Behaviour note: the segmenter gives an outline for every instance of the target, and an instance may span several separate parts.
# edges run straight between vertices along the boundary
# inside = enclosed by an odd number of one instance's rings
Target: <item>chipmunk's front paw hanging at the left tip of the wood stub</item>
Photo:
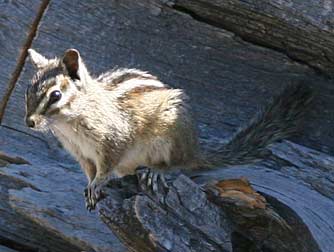
[[[84,191],[86,208],[89,212],[96,208],[97,202],[102,198],[102,187],[104,183],[96,178]]]

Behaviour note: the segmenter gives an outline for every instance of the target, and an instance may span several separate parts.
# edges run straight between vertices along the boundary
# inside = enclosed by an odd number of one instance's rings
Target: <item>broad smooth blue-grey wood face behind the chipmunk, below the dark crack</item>
[[[93,74],[115,66],[138,67],[186,89],[203,138],[230,136],[287,83],[307,79],[317,97],[296,141],[334,153],[330,81],[281,53],[195,20],[166,1],[53,1],[33,47],[48,57],[74,47]],[[24,131],[24,89],[31,76],[27,64],[5,118],[5,124]]]

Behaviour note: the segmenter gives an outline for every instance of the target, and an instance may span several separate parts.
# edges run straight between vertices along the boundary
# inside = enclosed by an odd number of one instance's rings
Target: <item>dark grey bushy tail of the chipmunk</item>
[[[307,85],[288,85],[246,128],[207,156],[210,166],[240,165],[263,159],[269,144],[298,132],[311,100],[312,92]]]

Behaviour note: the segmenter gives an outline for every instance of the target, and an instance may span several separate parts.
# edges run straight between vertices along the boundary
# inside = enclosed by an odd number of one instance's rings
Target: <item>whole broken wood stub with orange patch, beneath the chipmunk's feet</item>
[[[297,214],[269,195],[267,202],[245,178],[204,189],[181,175],[163,197],[136,184],[130,176],[112,180],[98,204],[102,220],[131,250],[320,251]]]

